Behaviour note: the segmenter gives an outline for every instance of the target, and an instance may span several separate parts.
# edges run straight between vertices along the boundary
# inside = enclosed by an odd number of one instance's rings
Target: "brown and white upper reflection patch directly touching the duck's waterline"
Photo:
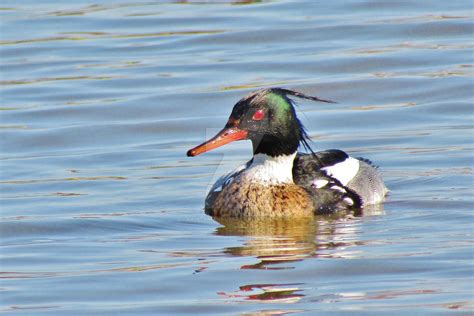
[[[369,216],[382,212],[381,206],[371,208]],[[354,251],[350,248],[362,244],[357,238],[362,216],[351,213],[312,218],[214,219],[222,225],[216,230],[218,235],[251,237],[241,246],[224,249],[234,256],[257,258],[256,263],[241,269],[292,269],[292,262],[308,257],[352,257]]]

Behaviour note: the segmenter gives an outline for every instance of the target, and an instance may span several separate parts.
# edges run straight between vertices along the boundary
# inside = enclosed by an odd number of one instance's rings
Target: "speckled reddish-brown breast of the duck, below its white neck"
[[[212,203],[212,215],[224,217],[312,216],[309,194],[296,184],[262,185],[234,181]]]

